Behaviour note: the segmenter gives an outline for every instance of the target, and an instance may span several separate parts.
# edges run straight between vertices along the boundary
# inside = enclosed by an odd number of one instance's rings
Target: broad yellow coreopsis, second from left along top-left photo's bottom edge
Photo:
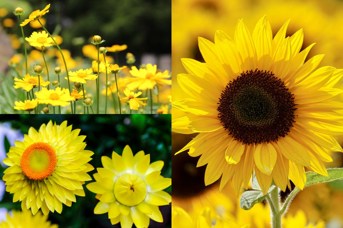
[[[52,106],[62,106],[66,107],[70,103],[69,101],[73,100],[73,97],[70,96],[68,89],[61,89],[56,87],[55,90],[48,90],[43,87],[41,91],[35,92],[36,97],[38,98],[39,104],[47,104]]]

